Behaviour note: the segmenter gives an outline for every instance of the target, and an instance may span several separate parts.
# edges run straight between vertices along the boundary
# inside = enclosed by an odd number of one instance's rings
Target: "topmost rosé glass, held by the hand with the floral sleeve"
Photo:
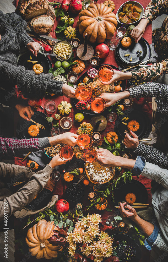
[[[102,65],[97,73],[100,81],[108,82],[112,79],[114,74],[113,68],[110,65]]]

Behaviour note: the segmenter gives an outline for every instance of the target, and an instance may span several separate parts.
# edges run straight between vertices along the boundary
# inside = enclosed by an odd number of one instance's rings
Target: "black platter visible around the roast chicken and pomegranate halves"
[[[97,70],[99,70],[99,68],[100,68],[102,65],[103,65],[103,64],[101,64],[101,65],[96,65],[94,68],[97,69]],[[117,67],[115,67],[114,65],[110,65],[110,66],[111,66],[113,69],[120,71],[120,70],[119,70]],[[79,79],[77,80],[77,82],[75,83],[75,85],[78,85],[80,82],[83,83],[83,79],[84,79],[85,77],[88,77],[88,71],[86,71],[83,75],[81,75],[81,76],[79,77]],[[122,87],[123,90],[125,90],[125,89],[126,89],[126,80],[122,80],[122,83],[121,83],[120,86]],[[78,101],[79,101],[78,99],[73,99],[73,102],[74,102],[75,107],[76,107]],[[79,112],[82,112],[82,113],[84,113],[84,114],[89,114],[89,115],[92,115],[92,116],[96,115],[96,113],[91,113],[90,110],[88,111],[88,110],[86,110],[86,109],[83,110],[83,111],[80,111],[80,110],[79,110]]]

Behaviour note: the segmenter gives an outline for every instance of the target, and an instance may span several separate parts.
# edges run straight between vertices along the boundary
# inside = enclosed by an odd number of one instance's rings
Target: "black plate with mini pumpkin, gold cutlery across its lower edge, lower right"
[[[145,186],[138,180],[132,179],[131,182],[120,182],[117,185],[117,189],[114,191],[115,206],[118,206],[118,202],[125,201],[125,196],[128,193],[136,195],[135,203],[147,204],[148,192]]]

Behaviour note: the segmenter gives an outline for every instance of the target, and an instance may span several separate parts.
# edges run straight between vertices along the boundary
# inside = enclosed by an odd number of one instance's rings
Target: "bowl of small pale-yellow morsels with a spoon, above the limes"
[[[60,61],[66,61],[72,56],[73,47],[67,40],[60,40],[53,46],[53,54]]]

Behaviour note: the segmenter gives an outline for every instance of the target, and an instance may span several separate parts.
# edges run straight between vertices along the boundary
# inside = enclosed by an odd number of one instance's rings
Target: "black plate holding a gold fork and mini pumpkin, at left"
[[[37,135],[37,137],[48,137],[50,135],[52,123],[48,122],[46,117],[47,115],[40,111],[34,112],[34,115],[31,117],[31,119],[34,120],[36,123],[44,125],[45,127],[45,129],[39,128],[40,132],[39,135]],[[28,134],[28,128],[30,127],[30,125],[35,125],[35,123],[20,118],[17,126],[17,134],[20,135],[22,139],[33,138]]]

